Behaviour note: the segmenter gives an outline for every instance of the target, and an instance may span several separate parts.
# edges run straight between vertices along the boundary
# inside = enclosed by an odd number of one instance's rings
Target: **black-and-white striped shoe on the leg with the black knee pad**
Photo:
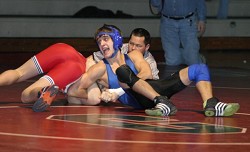
[[[153,101],[156,106],[145,110],[149,116],[171,116],[177,112],[175,105],[166,96],[157,96]]]

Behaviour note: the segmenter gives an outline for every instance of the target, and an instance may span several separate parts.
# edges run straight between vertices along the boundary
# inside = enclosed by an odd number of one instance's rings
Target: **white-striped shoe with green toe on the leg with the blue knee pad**
[[[207,100],[204,114],[207,117],[227,117],[234,115],[239,109],[239,103],[223,103],[213,97]]]

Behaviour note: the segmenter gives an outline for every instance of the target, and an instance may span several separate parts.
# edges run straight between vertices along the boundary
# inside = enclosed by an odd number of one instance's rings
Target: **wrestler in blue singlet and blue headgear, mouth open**
[[[239,109],[238,103],[226,104],[213,96],[205,64],[194,64],[165,79],[152,80],[150,66],[139,51],[121,53],[122,36],[117,27],[104,25],[96,31],[95,39],[104,59],[70,87],[69,96],[81,97],[84,90],[99,81],[109,88],[102,93],[101,100],[108,102],[118,99],[124,105],[146,109],[148,115],[168,116],[177,112],[169,98],[193,81],[204,101],[206,116],[231,116]]]

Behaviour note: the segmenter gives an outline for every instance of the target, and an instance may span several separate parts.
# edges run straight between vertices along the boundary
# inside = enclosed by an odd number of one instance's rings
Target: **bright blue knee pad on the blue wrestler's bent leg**
[[[206,64],[193,64],[188,67],[188,78],[195,83],[210,81],[210,73]]]

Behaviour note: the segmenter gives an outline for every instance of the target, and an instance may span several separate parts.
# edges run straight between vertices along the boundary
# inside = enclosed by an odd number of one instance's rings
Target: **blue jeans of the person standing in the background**
[[[196,17],[173,20],[161,17],[160,35],[167,65],[201,63]]]

